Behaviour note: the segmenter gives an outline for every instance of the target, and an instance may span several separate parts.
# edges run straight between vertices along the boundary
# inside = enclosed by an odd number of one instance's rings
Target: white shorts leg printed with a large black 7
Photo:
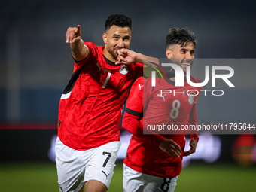
[[[87,163],[84,182],[96,180],[102,182],[108,188],[114,174],[119,148],[120,142],[110,142],[96,148],[91,154],[92,158]],[[90,187],[90,182],[87,182],[87,187]]]

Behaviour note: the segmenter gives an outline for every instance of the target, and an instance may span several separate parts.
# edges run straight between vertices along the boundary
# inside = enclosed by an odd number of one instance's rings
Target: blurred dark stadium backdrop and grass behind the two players
[[[224,96],[200,96],[199,123],[256,123],[256,14],[254,1],[56,1],[0,2],[0,191],[58,191],[54,139],[59,98],[72,75],[66,29],[78,24],[84,41],[103,45],[110,14],[133,19],[131,50],[165,58],[169,28],[197,35],[196,57],[234,59],[236,87],[217,81]],[[230,61],[230,60],[229,60]],[[221,64],[223,65],[223,64]],[[204,66],[192,74],[203,81]],[[205,89],[211,90],[210,84]],[[122,191],[122,150],[109,191]],[[175,191],[254,191],[254,134],[201,134],[197,153],[184,158]]]

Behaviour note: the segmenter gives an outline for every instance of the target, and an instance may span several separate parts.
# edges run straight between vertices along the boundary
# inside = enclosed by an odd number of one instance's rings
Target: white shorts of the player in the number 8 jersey
[[[123,164],[123,192],[173,192],[177,185],[175,178],[160,178],[136,172]]]

